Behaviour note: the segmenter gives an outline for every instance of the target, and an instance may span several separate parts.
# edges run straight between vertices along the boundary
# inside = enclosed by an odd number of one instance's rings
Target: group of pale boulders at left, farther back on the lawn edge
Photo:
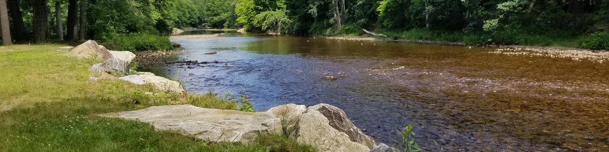
[[[157,89],[171,92],[185,92],[178,81],[159,77],[150,72],[132,72],[131,62],[136,57],[129,51],[108,50],[96,41],[89,40],[76,47],[60,47],[59,50],[71,50],[69,55],[77,58],[93,58],[94,60],[105,60],[104,63],[93,64],[91,72],[120,75],[119,79],[129,81],[138,85],[150,84]],[[132,74],[133,75],[128,75]],[[126,76],[125,76],[126,75]],[[91,77],[90,80],[100,78]]]

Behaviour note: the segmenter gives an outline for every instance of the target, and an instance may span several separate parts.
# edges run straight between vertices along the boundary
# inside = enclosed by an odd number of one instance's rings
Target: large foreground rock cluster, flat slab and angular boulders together
[[[376,145],[335,106],[281,105],[264,112],[199,108],[192,105],[153,106],[138,111],[103,114],[152,123],[157,130],[176,130],[211,142],[248,143],[259,134],[288,134],[317,151],[397,151]]]

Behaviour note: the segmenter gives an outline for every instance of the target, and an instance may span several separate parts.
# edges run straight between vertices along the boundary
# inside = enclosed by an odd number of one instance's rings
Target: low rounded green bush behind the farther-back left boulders
[[[104,42],[112,50],[171,50],[173,45],[167,37],[144,33],[118,34]]]

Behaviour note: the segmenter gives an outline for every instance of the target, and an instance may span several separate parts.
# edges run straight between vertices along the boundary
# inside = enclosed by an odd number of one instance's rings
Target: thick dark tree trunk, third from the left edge
[[[37,0],[32,2],[34,42],[46,41],[49,32],[49,0]]]

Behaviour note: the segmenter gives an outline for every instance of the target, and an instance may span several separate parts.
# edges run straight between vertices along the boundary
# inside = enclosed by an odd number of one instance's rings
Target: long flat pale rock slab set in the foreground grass
[[[177,105],[153,106],[102,116],[152,123],[157,130],[175,130],[211,142],[249,143],[260,133],[281,133],[280,120],[270,112],[242,112]]]

